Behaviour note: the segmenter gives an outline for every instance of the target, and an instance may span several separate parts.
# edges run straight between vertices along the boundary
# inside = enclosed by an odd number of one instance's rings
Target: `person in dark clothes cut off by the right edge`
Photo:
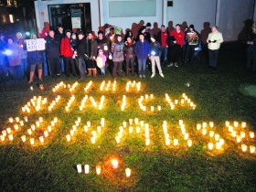
[[[246,68],[256,71],[256,26],[252,26],[251,37],[247,39],[247,61]]]

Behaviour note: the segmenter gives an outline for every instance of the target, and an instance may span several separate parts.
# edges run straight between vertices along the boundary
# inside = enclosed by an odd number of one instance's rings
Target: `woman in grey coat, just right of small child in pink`
[[[113,61],[113,68],[112,68],[112,78],[115,78],[116,73],[118,76],[122,77],[122,66],[123,66],[123,38],[121,35],[117,35],[117,39],[112,43],[112,61]]]

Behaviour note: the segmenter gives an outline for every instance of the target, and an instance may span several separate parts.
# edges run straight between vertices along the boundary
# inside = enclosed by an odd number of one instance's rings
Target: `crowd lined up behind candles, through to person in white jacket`
[[[137,37],[133,37],[131,30],[122,36],[114,27],[108,34],[100,30],[97,35],[94,37],[91,31],[64,31],[61,25],[57,31],[44,28],[41,38],[45,39],[45,50],[27,51],[26,39],[21,33],[16,33],[16,39],[7,37],[6,43],[1,34],[0,72],[10,73],[13,80],[27,77],[27,83],[33,82],[35,74],[38,80],[43,80],[43,75],[57,79],[62,74],[84,80],[85,76],[103,78],[108,71],[113,79],[122,77],[123,71],[125,76],[137,73],[144,79],[147,67],[151,67],[151,78],[155,77],[156,66],[159,75],[165,78],[161,65],[177,68],[180,58],[185,65],[193,64],[201,49],[201,35],[194,25],[182,31],[177,24],[171,33],[162,25],[161,30],[153,34],[151,23],[147,23],[138,30]],[[31,39],[37,39],[37,35],[32,34]],[[216,68],[219,46],[223,42],[218,27],[212,27],[207,41],[209,66]]]

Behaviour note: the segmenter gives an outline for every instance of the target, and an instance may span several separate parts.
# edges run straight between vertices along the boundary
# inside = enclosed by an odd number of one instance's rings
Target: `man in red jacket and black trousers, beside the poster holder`
[[[180,57],[180,51],[184,44],[184,33],[180,30],[180,24],[176,25],[176,28],[171,32],[170,37],[167,38],[168,55],[170,64],[168,67],[178,67],[178,59]]]

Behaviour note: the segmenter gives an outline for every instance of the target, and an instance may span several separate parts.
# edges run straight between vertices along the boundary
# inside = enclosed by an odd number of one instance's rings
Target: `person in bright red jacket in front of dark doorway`
[[[77,77],[74,59],[72,59],[74,50],[70,45],[71,31],[69,29],[67,29],[65,31],[65,34],[66,34],[66,36],[61,38],[61,41],[60,41],[60,55],[64,59],[65,72],[66,72],[67,78],[69,78],[70,66],[72,68],[72,75],[74,77]]]

